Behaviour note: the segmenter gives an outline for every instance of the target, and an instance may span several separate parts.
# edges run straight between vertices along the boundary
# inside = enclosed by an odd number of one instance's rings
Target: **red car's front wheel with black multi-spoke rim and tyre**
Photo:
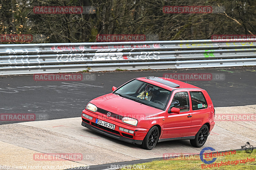
[[[159,137],[159,129],[156,126],[153,126],[149,129],[146,137],[143,139],[141,146],[144,149],[151,150],[156,146]]]

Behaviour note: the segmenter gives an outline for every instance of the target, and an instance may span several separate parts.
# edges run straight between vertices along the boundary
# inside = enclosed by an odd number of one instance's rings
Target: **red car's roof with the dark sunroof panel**
[[[199,87],[196,87],[195,85],[191,85],[191,84],[188,84],[179,80],[171,79],[171,78],[149,76],[149,77],[140,77],[136,79],[150,83],[152,85],[165,88],[170,91],[174,89],[181,89],[181,88],[201,89]]]

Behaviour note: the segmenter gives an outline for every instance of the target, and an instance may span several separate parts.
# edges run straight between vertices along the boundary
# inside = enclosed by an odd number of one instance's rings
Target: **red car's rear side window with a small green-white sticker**
[[[207,102],[202,92],[190,92],[192,101],[192,110],[207,108]]]

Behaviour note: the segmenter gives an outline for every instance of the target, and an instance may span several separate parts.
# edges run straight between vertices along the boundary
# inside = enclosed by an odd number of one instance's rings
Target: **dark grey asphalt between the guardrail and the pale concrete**
[[[0,113],[33,113],[36,121],[81,116],[95,97],[112,92],[136,77],[163,77],[165,73],[225,74],[225,80],[188,81],[205,89],[214,107],[255,104],[256,67],[207,68],[186,70],[145,70],[83,73],[95,74],[94,81],[34,81],[33,75],[0,76]],[[19,121],[0,121],[0,124]]]

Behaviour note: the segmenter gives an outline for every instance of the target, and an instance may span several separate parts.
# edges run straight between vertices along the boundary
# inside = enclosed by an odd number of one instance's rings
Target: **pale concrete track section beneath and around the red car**
[[[216,115],[254,114],[256,105],[216,107]],[[172,153],[199,154],[204,147],[216,151],[239,149],[250,142],[256,146],[255,120],[216,121],[202,148],[189,140],[166,141],[153,150],[101,135],[81,126],[81,117],[0,125],[0,165],[101,165],[139,159],[162,158]],[[55,161],[33,159],[35,153],[80,153],[83,159]],[[23,168],[26,169],[26,168]],[[55,168],[57,169],[57,168]],[[63,169],[68,169],[66,168]]]

